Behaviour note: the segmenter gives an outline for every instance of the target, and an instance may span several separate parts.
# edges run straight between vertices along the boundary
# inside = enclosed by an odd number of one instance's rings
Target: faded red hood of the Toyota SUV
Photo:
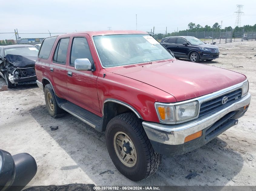
[[[177,101],[210,94],[246,80],[237,72],[176,59],[105,70],[161,89]]]

